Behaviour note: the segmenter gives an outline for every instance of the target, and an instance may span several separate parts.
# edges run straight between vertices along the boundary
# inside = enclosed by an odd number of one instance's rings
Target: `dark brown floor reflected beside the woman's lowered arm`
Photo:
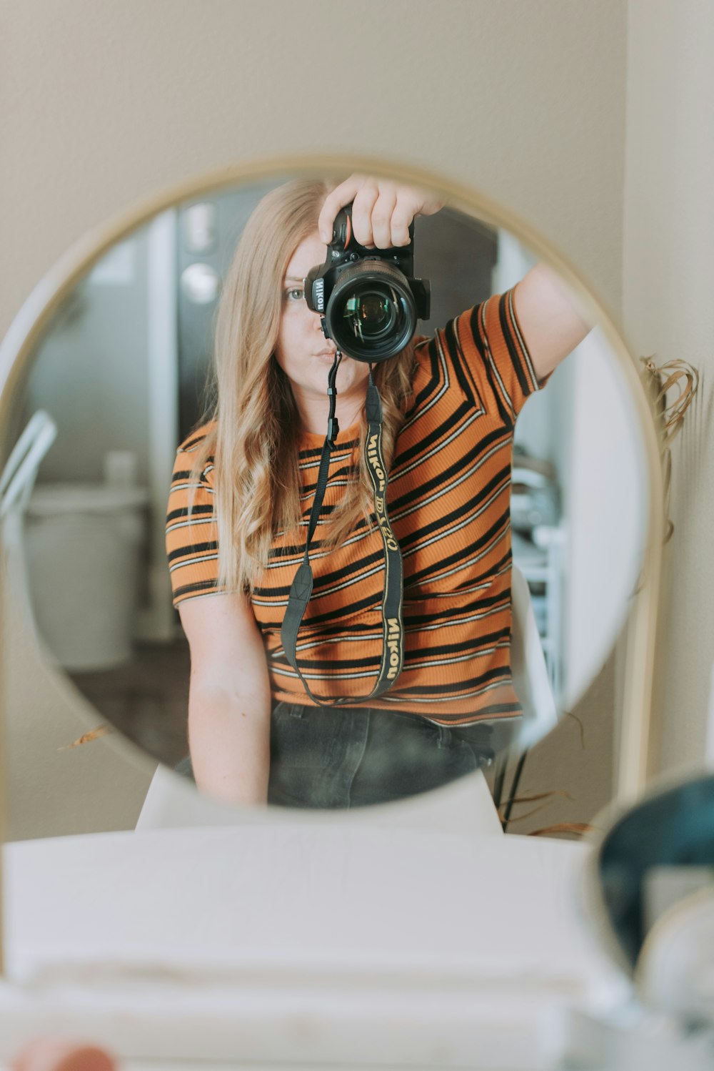
[[[118,669],[71,673],[87,699],[154,758],[175,766],[188,754],[188,644],[138,644]]]

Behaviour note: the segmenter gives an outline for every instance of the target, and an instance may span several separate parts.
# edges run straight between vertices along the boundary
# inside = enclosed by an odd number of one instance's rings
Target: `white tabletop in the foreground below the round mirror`
[[[91,1027],[136,1071],[548,1068],[619,984],[580,844],[276,818],[4,850],[0,1058]]]

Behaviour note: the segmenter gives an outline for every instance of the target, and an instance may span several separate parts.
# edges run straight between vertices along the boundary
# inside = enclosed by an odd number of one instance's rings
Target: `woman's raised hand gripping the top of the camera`
[[[409,224],[415,215],[433,215],[439,201],[424,190],[404,186],[389,179],[351,175],[327,195],[317,221],[320,237],[332,240],[332,224],[341,208],[352,207],[352,230],[360,245],[388,250],[409,244]]]

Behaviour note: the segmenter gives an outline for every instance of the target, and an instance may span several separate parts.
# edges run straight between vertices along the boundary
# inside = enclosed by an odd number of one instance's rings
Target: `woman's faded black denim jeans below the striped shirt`
[[[490,765],[490,734],[486,724],[449,729],[397,710],[278,703],[268,802],[346,809],[429,791]],[[176,770],[192,776],[190,759]]]

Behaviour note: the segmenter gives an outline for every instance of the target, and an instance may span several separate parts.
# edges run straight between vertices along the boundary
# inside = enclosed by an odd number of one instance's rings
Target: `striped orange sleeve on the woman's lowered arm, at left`
[[[166,550],[173,605],[218,587],[218,531],[214,515],[213,465],[191,474],[196,437],[176,451],[166,517]]]

